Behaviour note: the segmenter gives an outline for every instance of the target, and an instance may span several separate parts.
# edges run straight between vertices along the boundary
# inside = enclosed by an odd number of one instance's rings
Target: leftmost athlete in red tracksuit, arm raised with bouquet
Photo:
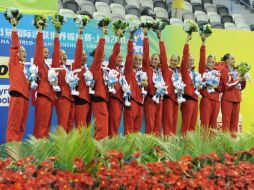
[[[12,20],[15,24],[16,20]],[[26,50],[19,44],[16,27],[12,27],[12,42],[9,60],[10,79],[10,105],[8,113],[8,126],[6,129],[6,142],[21,141],[26,128],[29,109],[30,85],[24,74]]]

